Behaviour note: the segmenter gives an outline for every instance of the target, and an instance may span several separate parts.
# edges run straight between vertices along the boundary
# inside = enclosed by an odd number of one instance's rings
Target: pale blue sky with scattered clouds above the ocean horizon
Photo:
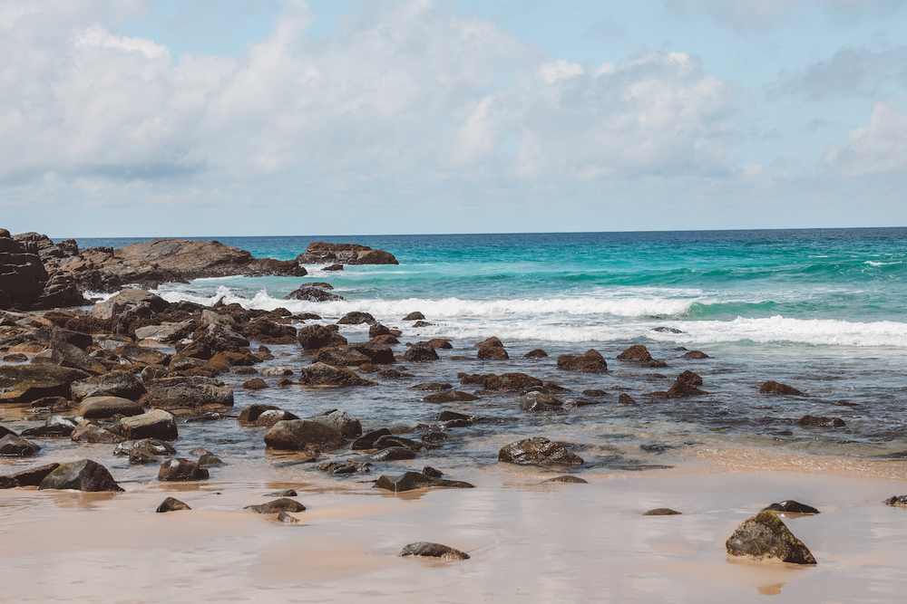
[[[907,225],[907,0],[0,0],[0,227]]]

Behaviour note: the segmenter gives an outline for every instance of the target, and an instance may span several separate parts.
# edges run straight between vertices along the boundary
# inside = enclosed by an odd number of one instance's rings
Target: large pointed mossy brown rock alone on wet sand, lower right
[[[755,560],[775,558],[794,564],[815,564],[809,549],[797,539],[775,513],[764,510],[737,526],[725,544],[730,556]]]

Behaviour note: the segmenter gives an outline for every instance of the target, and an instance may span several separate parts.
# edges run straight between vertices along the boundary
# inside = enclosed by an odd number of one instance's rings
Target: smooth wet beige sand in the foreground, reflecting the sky
[[[900,464],[899,464],[900,465]],[[367,483],[124,483],[123,494],[0,491],[2,601],[900,601],[901,480],[795,472],[588,475],[473,471],[478,488],[387,494]],[[363,476],[363,479],[368,476]],[[296,488],[297,524],[243,510]],[[188,512],[154,513],[166,496]],[[724,542],[769,503],[815,567],[729,560]],[[683,515],[647,517],[655,507]],[[398,558],[442,542],[469,561]]]

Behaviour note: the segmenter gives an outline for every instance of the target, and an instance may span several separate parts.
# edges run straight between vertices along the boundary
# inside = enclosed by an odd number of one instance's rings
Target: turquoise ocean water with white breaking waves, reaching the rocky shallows
[[[529,436],[569,443],[585,468],[609,472],[716,465],[859,468],[867,460],[900,468],[907,457],[904,228],[193,238],[214,238],[256,257],[281,260],[295,258],[315,241],[366,244],[395,254],[400,264],[329,273],[307,266],[303,278],[167,284],[158,293],[168,301],[285,307],[317,313],[323,320],[315,322],[326,324],[362,311],[403,330],[401,342],[452,340],[453,350],[439,350],[440,361],[397,363],[413,378],[379,380],[380,388],[294,386],[247,393],[241,389],[244,377],[227,376],[236,382],[231,385],[238,388],[238,407],[267,402],[300,417],[343,408],[365,429],[391,427],[410,437],[433,426],[442,410],[459,411],[481,420],[451,431],[447,444],[428,457],[476,468],[496,465],[501,446]],[[140,240],[77,241],[80,247],[121,247]],[[346,300],[284,300],[312,282],[330,283]],[[414,311],[432,324],[415,329],[402,321]],[[367,325],[344,326],[341,333],[351,342],[368,339]],[[503,341],[510,360],[449,360],[474,359],[473,345],[491,336]],[[616,359],[634,344],[645,345],[668,368]],[[286,355],[270,365],[297,368],[309,362],[299,358],[298,347],[270,348]],[[522,358],[538,348],[549,357]],[[681,348],[709,358],[682,359]],[[589,349],[605,357],[608,373],[557,369],[558,355]],[[395,351],[402,354],[405,346]],[[670,388],[687,369],[702,377],[706,395],[647,396]],[[480,394],[478,401],[430,404],[412,388],[423,381],[461,388],[459,373],[512,371],[570,388],[561,397],[565,412],[527,414],[517,395],[487,395],[475,387],[462,389]],[[760,394],[767,380],[805,396]],[[607,395],[582,394],[590,389]],[[620,394],[636,404],[619,404]],[[796,423],[807,415],[840,418],[844,427]],[[198,442],[260,463],[260,455],[249,453],[249,446],[261,444],[260,435],[245,430],[247,436],[238,437],[235,428],[218,428],[219,423],[198,428]]]

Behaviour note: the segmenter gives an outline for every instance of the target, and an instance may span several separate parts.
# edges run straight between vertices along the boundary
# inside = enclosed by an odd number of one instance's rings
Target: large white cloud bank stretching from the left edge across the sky
[[[64,3],[63,3],[64,4]],[[305,3],[239,59],[116,35],[101,0],[0,13],[0,179],[286,174],[633,177],[724,167],[735,91],[684,53],[598,70],[432,3],[365,5],[327,39]],[[27,14],[37,7],[39,12]],[[119,17],[118,17],[119,18]],[[114,20],[115,21],[115,20]],[[518,151],[502,152],[516,140]]]

